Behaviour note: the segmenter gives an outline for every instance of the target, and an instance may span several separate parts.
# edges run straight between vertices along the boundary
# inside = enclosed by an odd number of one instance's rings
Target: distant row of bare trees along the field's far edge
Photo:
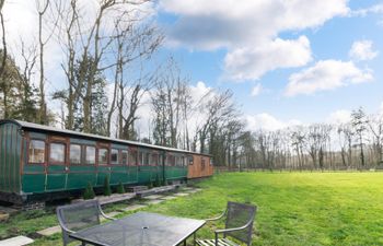
[[[236,167],[350,171],[383,167],[383,115],[352,110],[344,124],[312,124],[239,136]]]

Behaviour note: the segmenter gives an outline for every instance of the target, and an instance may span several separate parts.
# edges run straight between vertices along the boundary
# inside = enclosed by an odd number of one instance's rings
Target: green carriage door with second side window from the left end
[[[46,190],[55,191],[66,188],[68,171],[68,141],[66,138],[50,136],[48,140],[48,163]]]

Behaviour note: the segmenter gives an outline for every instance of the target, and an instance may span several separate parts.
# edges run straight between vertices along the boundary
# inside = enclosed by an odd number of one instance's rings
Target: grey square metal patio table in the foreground
[[[138,212],[70,234],[83,244],[103,246],[176,246],[206,221]]]

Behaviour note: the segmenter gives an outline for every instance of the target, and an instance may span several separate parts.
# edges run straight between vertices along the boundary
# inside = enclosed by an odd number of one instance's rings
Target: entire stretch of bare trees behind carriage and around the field
[[[353,110],[343,125],[276,131],[246,128],[230,90],[193,92],[177,61],[161,58],[164,35],[149,0],[36,0],[32,44],[8,42],[0,0],[0,114],[43,125],[213,155],[217,166],[262,169],[380,167],[383,120]],[[47,47],[61,50],[60,89],[47,92]],[[15,59],[18,58],[18,59]],[[60,109],[54,109],[53,103]],[[148,132],[138,127],[148,108]]]

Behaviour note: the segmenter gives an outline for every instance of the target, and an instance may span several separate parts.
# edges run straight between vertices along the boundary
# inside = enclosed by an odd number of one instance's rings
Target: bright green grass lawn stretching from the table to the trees
[[[202,219],[218,215],[228,200],[252,202],[258,207],[253,245],[383,245],[383,173],[230,173],[198,185],[201,192],[144,210]],[[20,213],[0,224],[0,237],[56,223],[51,212]],[[216,226],[198,235],[211,237]],[[35,243],[60,244],[59,234]]]

